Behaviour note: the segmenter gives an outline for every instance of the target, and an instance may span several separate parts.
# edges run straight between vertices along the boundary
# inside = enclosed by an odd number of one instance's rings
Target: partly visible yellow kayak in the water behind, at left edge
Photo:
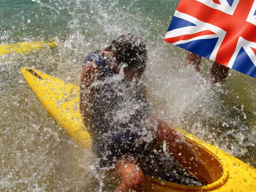
[[[32,51],[36,51],[38,49],[42,49],[43,47],[54,48],[57,44],[52,41],[34,41],[34,42],[22,42],[22,43],[14,43],[14,44],[6,44],[0,45],[0,56],[7,53],[29,53]]]

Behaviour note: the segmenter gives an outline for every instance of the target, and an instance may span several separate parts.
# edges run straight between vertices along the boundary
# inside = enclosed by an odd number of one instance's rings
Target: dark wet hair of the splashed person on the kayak
[[[127,63],[128,66],[125,69],[132,70],[135,77],[140,78],[145,70],[147,60],[146,44],[140,37],[135,37],[132,34],[121,35],[112,41],[108,49],[113,51],[118,65]]]

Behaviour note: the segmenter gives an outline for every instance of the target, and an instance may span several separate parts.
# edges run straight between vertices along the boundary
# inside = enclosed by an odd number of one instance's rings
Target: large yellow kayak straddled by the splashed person
[[[55,121],[77,144],[90,149],[90,135],[79,112],[79,87],[65,84],[64,81],[33,68],[22,68],[21,73]],[[256,191],[254,168],[205,141],[175,128],[197,148],[196,152],[202,157],[215,182],[205,186],[188,186],[146,176],[145,182],[138,186],[136,191]]]

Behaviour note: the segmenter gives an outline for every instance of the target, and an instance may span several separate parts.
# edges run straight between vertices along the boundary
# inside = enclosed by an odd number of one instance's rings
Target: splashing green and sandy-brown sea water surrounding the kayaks
[[[256,80],[230,70],[210,84],[209,60],[194,73],[185,51],[163,41],[178,1],[0,0],[0,43],[51,40],[29,54],[0,56],[1,190],[98,191],[88,151],[76,146],[45,112],[20,74],[24,66],[79,84],[83,58],[121,34],[142,36],[148,49],[143,76],[158,116],[256,166]],[[103,178],[103,180],[105,180]],[[118,180],[104,181],[113,191]]]

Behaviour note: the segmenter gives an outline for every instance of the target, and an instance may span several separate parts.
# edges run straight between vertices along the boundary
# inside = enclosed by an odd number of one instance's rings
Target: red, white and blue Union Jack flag
[[[164,41],[256,78],[256,0],[180,0]]]

